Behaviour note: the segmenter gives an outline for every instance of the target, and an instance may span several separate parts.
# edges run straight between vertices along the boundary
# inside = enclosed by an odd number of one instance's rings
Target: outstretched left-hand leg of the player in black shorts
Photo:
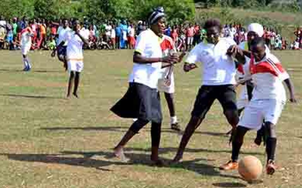
[[[200,123],[203,121],[214,100],[215,95],[213,93],[213,88],[211,86],[201,86],[194,103],[193,111],[191,112],[190,121],[182,135],[182,140],[179,144],[176,156],[173,159],[173,163],[177,163],[182,159],[185,147],[187,146],[195,129],[198,128]]]

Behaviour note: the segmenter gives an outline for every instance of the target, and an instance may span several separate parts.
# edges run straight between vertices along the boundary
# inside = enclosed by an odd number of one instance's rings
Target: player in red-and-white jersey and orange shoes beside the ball
[[[265,41],[257,37],[251,41],[250,52],[245,52],[251,58],[246,76],[251,76],[254,91],[251,101],[245,107],[238,127],[233,130],[232,158],[221,170],[238,168],[238,156],[243,144],[244,135],[251,129],[260,129],[264,119],[266,131],[266,172],[272,175],[275,170],[275,150],[277,144],[276,123],[286,102],[286,92],[282,81],[287,78],[286,71],[280,61],[271,53],[266,53]]]

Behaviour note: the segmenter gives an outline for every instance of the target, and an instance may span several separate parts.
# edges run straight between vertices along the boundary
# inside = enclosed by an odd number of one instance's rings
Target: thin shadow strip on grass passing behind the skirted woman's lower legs
[[[129,125],[130,126],[130,125]],[[84,130],[84,131],[115,131],[115,132],[126,132],[129,127],[44,127],[43,130]],[[150,131],[150,128],[143,128],[142,131]],[[175,131],[168,128],[162,128],[162,133],[176,133],[182,135],[183,131]],[[223,136],[226,137],[226,133],[209,132],[209,131],[195,131],[194,134],[202,134],[209,136]]]

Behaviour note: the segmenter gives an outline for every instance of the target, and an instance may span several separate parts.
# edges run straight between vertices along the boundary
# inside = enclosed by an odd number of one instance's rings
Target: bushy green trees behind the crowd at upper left
[[[193,19],[193,0],[2,0],[0,14],[45,19],[144,19],[152,8],[163,6],[169,19]]]

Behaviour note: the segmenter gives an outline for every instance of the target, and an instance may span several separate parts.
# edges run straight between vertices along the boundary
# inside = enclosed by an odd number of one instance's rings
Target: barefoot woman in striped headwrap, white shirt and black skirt
[[[161,134],[162,113],[157,84],[162,66],[172,66],[178,61],[176,54],[163,57],[160,37],[165,30],[165,13],[157,8],[148,16],[150,29],[137,37],[133,55],[133,70],[129,76],[129,88],[120,101],[110,110],[122,118],[137,118],[114,149],[115,156],[127,160],[123,148],[148,122],[151,122],[151,161],[165,165],[159,159],[158,149]]]

